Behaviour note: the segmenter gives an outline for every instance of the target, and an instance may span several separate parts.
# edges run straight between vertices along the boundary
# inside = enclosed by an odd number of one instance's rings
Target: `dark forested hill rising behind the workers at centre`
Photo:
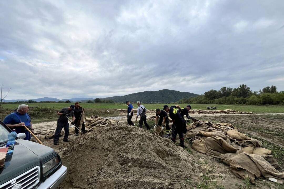
[[[198,94],[163,89],[159,91],[144,91],[124,96],[113,96],[101,99],[113,100],[116,103],[125,103],[127,100],[131,101],[132,103],[135,103],[137,101],[141,101],[142,103],[171,103],[177,102],[179,99],[182,98],[189,98],[195,96],[198,96]]]

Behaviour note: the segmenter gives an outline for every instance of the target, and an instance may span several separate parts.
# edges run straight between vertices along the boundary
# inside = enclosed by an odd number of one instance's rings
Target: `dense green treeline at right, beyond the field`
[[[252,92],[250,87],[242,84],[238,88],[211,89],[204,95],[180,99],[178,103],[277,105],[284,104],[284,91],[278,92],[276,86],[272,85]]]

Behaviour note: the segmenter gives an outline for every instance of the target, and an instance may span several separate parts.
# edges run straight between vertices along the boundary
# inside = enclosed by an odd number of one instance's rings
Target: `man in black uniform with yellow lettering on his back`
[[[179,105],[171,107],[169,107],[168,105],[164,105],[164,110],[166,112],[169,112],[169,116],[173,121],[171,140],[175,143],[176,137],[177,135],[179,135],[179,146],[184,148],[183,133],[182,133],[183,118],[181,117],[180,113],[177,111],[176,108],[181,110],[181,107]]]

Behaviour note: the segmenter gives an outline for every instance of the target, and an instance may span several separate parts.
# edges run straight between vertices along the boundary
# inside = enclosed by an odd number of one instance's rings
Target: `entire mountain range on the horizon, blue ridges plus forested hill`
[[[171,102],[177,102],[179,99],[182,98],[189,98],[189,97],[195,97],[198,96],[198,94],[189,93],[189,92],[179,92],[175,90],[168,90],[163,89],[159,91],[143,91],[138,93],[132,93],[124,96],[112,96],[112,97],[106,97],[101,98],[101,100],[113,100],[115,103],[125,103],[127,100],[137,102],[141,101],[142,103],[171,103]],[[94,98],[69,98],[69,99],[57,99],[57,98],[51,98],[51,97],[43,97],[43,98],[37,98],[37,99],[12,99],[12,100],[5,100],[4,102],[15,102],[15,101],[66,101],[70,100],[71,102],[87,102],[88,100],[94,100]]]

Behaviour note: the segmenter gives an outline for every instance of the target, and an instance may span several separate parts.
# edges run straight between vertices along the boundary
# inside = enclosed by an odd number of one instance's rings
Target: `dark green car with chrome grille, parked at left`
[[[6,146],[10,132],[0,121],[0,148]],[[0,189],[57,188],[67,175],[67,167],[54,149],[22,140],[25,137],[17,134],[14,151],[7,154],[5,166],[0,168]]]

